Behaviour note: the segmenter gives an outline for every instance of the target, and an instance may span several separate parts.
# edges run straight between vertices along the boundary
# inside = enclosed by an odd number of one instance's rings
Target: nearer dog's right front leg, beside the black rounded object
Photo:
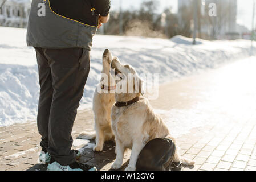
[[[135,142],[132,145],[132,154],[130,156],[130,162],[128,164],[128,167],[125,168],[125,171],[135,171],[136,170],[136,163],[138,156],[140,154],[140,151],[143,149],[144,144],[143,142]]]

